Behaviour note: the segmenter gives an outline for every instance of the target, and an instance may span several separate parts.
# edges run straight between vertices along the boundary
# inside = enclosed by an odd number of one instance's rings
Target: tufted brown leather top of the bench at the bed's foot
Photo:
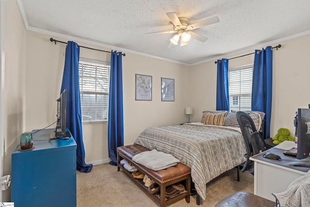
[[[190,168],[182,163],[178,163],[177,165],[173,167],[169,167],[167,169],[154,171],[139,163],[132,161],[132,158],[135,155],[141,152],[145,152],[145,151],[150,151],[150,149],[144,146],[141,146],[139,144],[132,144],[132,145],[117,147],[117,152],[120,153],[123,158],[128,159],[127,161],[133,163],[134,165],[137,165],[138,168],[140,168],[142,171],[146,172],[147,174],[151,175],[154,179],[156,179],[160,183],[166,183],[171,180],[190,174]]]

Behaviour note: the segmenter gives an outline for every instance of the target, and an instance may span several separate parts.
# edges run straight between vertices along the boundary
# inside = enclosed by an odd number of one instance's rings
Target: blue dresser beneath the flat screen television
[[[15,207],[77,206],[77,144],[73,137],[48,141],[54,130],[34,133],[34,149],[12,153]]]

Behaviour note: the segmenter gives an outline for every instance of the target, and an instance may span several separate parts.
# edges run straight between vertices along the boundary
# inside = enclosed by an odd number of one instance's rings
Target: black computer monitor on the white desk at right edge
[[[297,159],[305,159],[310,153],[310,109],[298,109],[297,123]]]

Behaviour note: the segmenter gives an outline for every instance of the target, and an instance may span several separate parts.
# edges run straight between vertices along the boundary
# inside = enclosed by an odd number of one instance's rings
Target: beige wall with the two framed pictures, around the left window
[[[50,37],[27,31],[25,123],[26,130],[29,131],[47,127],[56,120],[56,99],[60,95],[66,45],[55,45],[49,41]],[[55,39],[68,41],[62,38]],[[111,50],[84,43],[78,44]],[[110,62],[110,53],[91,49],[80,48],[80,57]],[[135,74],[152,76],[152,101],[135,100]],[[161,77],[174,79],[175,101],[161,101]],[[186,122],[185,107],[189,104],[188,77],[188,66],[126,52],[126,56],[123,57],[124,144],[134,143],[146,127]],[[82,129],[86,163],[108,162],[107,124],[83,124]]]

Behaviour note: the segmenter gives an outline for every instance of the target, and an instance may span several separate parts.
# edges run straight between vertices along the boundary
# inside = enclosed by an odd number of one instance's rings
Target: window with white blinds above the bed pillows
[[[251,110],[253,65],[228,70],[229,106],[231,111]]]

